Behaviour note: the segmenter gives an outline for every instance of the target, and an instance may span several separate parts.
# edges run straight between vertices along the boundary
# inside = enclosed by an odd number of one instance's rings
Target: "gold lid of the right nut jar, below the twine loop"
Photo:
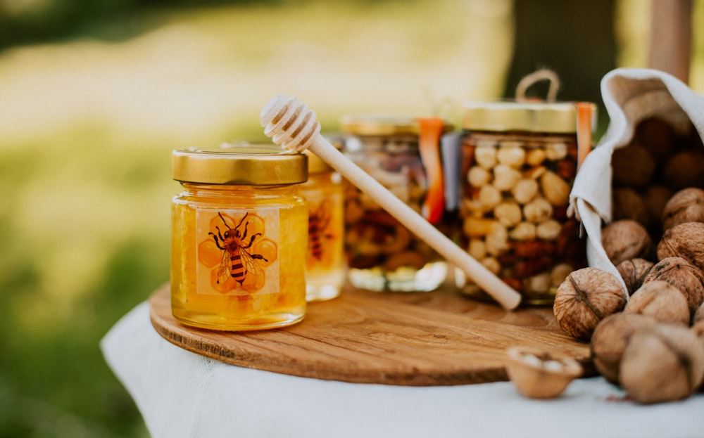
[[[596,114],[596,105],[592,114]],[[577,132],[577,105],[568,102],[468,102],[463,105],[462,127],[470,131],[572,134]]]

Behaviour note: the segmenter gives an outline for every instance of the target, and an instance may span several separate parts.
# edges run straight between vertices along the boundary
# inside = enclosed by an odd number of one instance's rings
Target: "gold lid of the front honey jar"
[[[172,177],[205,184],[276,186],[308,181],[308,157],[274,144],[174,150]]]

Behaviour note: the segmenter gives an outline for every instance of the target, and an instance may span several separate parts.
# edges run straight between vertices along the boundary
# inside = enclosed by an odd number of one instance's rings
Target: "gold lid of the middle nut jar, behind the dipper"
[[[340,128],[346,134],[360,136],[417,136],[420,133],[417,117],[347,115],[340,120]],[[453,125],[445,122],[443,132],[448,132],[452,129]]]

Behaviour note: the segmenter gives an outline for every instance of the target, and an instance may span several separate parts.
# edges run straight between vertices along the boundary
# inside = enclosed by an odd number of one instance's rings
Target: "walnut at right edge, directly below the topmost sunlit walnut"
[[[704,269],[704,223],[685,222],[668,228],[658,243],[658,259],[682,257]]]

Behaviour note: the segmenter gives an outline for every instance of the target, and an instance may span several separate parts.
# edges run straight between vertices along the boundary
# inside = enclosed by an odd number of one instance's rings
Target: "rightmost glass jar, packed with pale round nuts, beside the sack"
[[[593,114],[593,105],[588,108]],[[591,146],[592,127],[593,120],[589,144],[579,148]],[[551,304],[567,275],[586,266],[579,222],[567,214],[584,153],[577,105],[467,103],[463,129],[461,244],[521,292],[522,303]],[[489,299],[461,271],[455,281],[465,295]]]

